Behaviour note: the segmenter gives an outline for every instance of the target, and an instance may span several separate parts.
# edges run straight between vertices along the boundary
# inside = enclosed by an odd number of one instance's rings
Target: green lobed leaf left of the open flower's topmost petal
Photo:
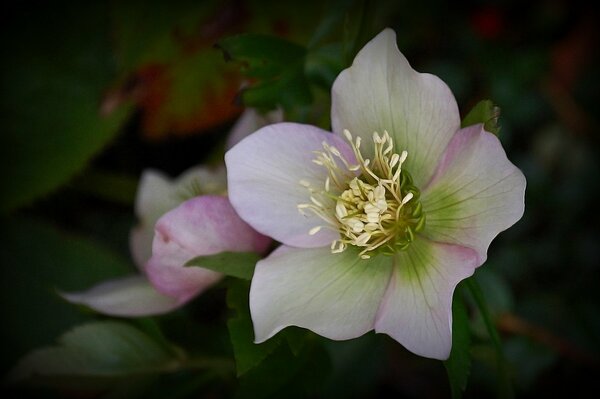
[[[256,82],[242,91],[244,105],[290,109],[312,101],[304,73],[306,49],[268,35],[243,34],[220,40],[226,59],[242,65],[244,74]]]

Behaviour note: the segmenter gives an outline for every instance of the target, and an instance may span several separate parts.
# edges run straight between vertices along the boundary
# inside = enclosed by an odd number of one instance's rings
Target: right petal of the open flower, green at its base
[[[461,129],[422,191],[423,234],[473,248],[483,263],[494,237],[523,216],[525,184],[496,136],[482,125]]]

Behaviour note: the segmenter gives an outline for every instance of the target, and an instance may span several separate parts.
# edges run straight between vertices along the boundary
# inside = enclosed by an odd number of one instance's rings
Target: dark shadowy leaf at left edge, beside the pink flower
[[[32,347],[89,320],[54,290],[79,290],[131,273],[129,263],[96,242],[25,218],[0,223],[2,370]],[[43,326],[41,328],[40,326]]]

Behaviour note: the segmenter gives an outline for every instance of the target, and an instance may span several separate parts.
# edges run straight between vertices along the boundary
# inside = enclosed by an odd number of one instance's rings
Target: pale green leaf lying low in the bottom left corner
[[[11,371],[11,381],[31,378],[114,378],[174,369],[177,359],[148,335],[121,322],[84,324],[58,345],[35,350]]]

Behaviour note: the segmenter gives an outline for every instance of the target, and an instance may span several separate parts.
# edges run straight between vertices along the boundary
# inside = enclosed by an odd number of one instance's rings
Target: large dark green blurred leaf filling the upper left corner
[[[65,3],[64,5],[66,5]],[[81,171],[129,114],[101,115],[113,77],[104,3],[13,7],[0,35],[0,211]]]

